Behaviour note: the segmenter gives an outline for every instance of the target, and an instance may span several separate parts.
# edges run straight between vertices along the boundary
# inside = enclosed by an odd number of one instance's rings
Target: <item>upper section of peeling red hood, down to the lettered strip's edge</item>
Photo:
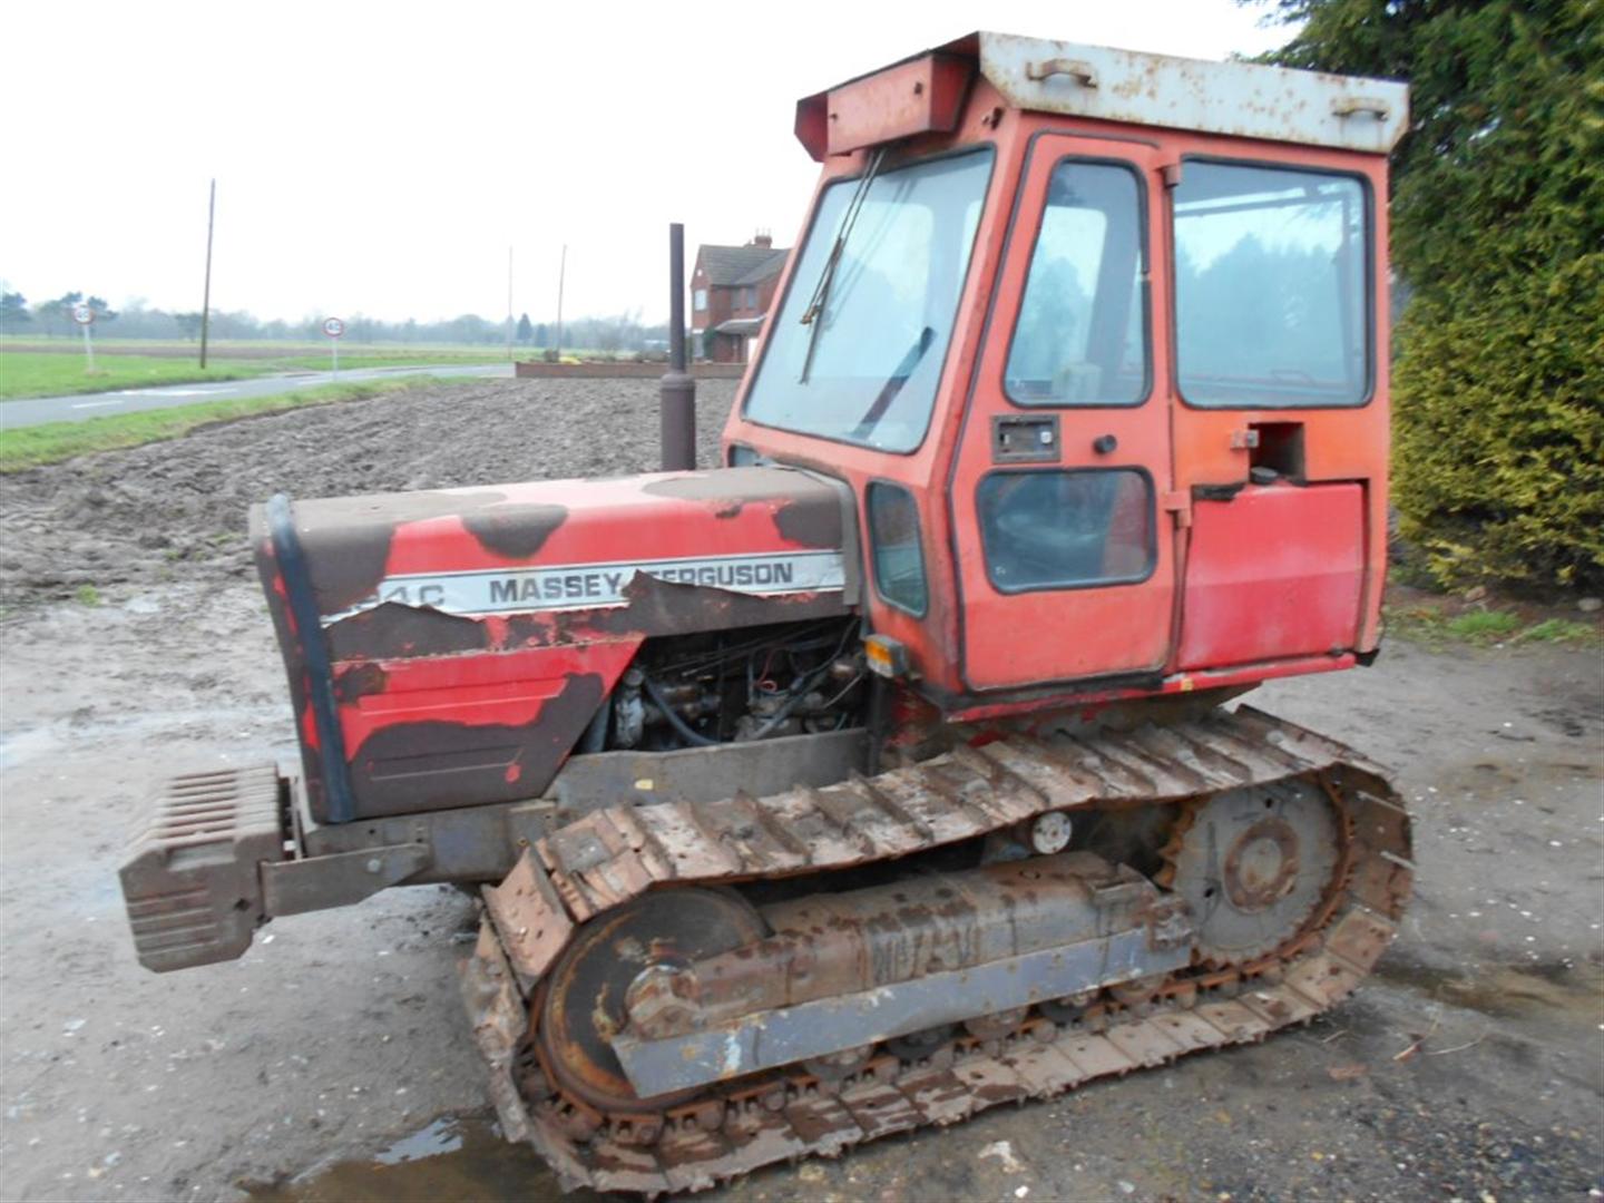
[[[324,624],[627,605],[637,574],[738,593],[840,590],[842,504],[789,468],[536,481],[295,504]]]

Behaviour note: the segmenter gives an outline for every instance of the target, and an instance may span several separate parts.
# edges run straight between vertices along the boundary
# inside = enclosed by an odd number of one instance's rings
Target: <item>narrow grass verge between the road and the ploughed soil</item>
[[[294,393],[252,396],[234,401],[202,401],[172,409],[148,409],[138,414],[91,417],[87,422],[45,422],[0,431],[0,473],[24,472],[45,464],[61,464],[96,451],[138,448],[183,438],[197,427],[237,422],[263,414],[277,414],[303,406],[326,406],[337,401],[361,401],[380,393],[396,393],[425,385],[460,383],[435,375],[412,375],[404,380],[367,380],[351,385],[324,385]]]

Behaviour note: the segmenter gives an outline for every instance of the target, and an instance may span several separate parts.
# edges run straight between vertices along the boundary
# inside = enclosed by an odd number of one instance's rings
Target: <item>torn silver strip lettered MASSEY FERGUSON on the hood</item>
[[[695,560],[638,560],[613,565],[552,565],[465,573],[414,573],[385,577],[379,590],[338,614],[329,626],[387,602],[430,606],[448,614],[502,614],[528,610],[621,606],[635,573],[682,585],[707,585],[733,593],[821,593],[842,589],[840,552],[762,552]]]

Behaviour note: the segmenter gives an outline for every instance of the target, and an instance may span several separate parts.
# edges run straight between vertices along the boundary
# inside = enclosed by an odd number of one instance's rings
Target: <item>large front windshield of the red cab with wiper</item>
[[[800,435],[913,451],[924,439],[991,151],[929,159],[824,189],[746,398]]]

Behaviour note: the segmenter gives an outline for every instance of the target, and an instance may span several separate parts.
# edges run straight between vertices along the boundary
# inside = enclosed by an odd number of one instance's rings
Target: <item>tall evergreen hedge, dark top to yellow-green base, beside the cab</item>
[[[1266,58],[1410,82],[1400,533],[1445,585],[1604,585],[1604,0],[1248,0]]]

